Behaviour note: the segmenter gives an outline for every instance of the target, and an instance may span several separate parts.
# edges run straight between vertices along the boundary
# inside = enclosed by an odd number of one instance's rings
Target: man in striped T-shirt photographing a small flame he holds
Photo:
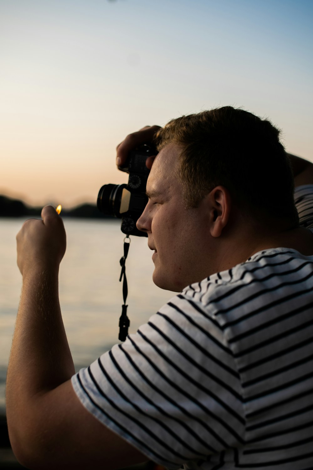
[[[146,127],[159,153],[137,227],[153,281],[180,292],[74,375],[61,320],[61,218],[17,236],[23,274],[7,380],[10,439],[29,468],[313,466],[313,165],[231,107]],[[305,226],[305,227],[304,227]],[[72,377],[73,376],[73,377]],[[72,381],[70,380],[72,377]]]

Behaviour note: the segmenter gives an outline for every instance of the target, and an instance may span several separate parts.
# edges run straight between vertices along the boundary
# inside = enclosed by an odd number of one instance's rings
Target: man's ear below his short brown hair
[[[210,233],[213,237],[221,236],[226,227],[231,210],[231,196],[224,186],[216,186],[209,194]]]

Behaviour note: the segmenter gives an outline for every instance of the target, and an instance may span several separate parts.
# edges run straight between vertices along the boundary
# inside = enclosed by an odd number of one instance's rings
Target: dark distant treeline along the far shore
[[[0,195],[0,217],[40,217],[42,207],[30,207],[19,199]],[[102,214],[95,204],[81,204],[74,209],[63,209],[62,217],[82,217],[92,219],[113,218]]]

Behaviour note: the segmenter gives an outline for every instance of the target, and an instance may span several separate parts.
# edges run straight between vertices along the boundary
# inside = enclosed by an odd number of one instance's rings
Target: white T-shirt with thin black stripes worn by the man
[[[313,186],[295,201],[313,227]],[[313,256],[260,251],[186,287],[73,386],[168,469],[312,469],[312,312]]]

